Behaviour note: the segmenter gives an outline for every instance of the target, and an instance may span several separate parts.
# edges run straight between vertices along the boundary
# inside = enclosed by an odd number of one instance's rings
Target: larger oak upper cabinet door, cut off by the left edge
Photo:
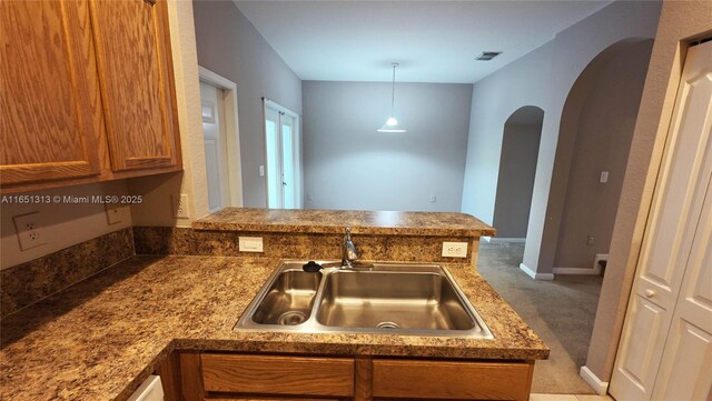
[[[86,1],[0,2],[0,183],[100,173]]]

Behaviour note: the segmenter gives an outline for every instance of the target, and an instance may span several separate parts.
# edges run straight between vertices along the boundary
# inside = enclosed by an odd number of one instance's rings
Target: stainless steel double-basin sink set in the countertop
[[[493,338],[444,267],[322,264],[306,272],[304,262],[283,262],[235,330]]]

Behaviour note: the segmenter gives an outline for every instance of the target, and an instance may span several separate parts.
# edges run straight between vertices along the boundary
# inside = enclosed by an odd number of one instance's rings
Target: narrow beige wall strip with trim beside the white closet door
[[[710,34],[712,1],[663,3],[586,360],[586,367],[603,381],[613,371],[686,43]]]

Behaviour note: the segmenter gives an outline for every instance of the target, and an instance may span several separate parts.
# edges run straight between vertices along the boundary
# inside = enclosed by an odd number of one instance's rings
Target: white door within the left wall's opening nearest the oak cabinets
[[[229,204],[227,144],[222,122],[225,108],[221,91],[209,83],[200,82],[200,103],[208,179],[208,204],[210,213],[214,213]]]

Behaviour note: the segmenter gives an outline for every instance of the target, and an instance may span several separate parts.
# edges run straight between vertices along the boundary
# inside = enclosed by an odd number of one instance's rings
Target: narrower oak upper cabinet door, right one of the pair
[[[111,169],[179,166],[166,0],[91,0]]]

